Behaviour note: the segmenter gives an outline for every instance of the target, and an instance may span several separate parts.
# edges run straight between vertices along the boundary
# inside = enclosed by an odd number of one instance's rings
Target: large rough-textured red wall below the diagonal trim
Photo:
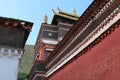
[[[120,26],[49,80],[120,80]]]

